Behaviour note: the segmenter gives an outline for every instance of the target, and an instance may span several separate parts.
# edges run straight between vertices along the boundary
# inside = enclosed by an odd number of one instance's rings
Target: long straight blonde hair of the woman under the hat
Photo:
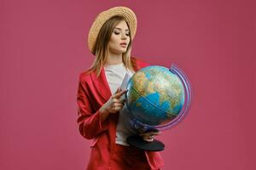
[[[96,43],[92,48],[92,54],[96,56],[96,59],[93,61],[92,65],[90,66],[90,69],[86,71],[87,73],[96,72],[97,77],[100,75],[102,71],[102,67],[107,61],[108,42],[110,40],[114,27],[117,26],[121,20],[125,20],[125,18],[119,15],[116,15],[110,18],[109,20],[107,20],[107,22],[105,22],[104,25],[102,26],[96,38]],[[130,29],[128,23],[127,23],[127,26]],[[131,59],[131,34],[130,34],[130,42],[128,44],[128,47],[125,53],[122,54],[122,59],[127,69],[132,70],[136,66],[135,59]]]

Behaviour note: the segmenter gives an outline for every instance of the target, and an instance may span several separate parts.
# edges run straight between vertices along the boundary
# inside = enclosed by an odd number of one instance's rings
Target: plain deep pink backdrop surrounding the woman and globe
[[[132,54],[177,64],[193,85],[189,116],[159,137],[164,169],[255,169],[253,0],[2,0],[0,169],[84,169],[76,90],[94,59],[87,33],[118,5],[137,14]]]

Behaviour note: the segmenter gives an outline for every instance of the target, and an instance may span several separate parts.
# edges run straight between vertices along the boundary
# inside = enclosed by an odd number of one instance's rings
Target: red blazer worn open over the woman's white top
[[[135,60],[137,63],[134,68],[135,71],[148,66],[141,60]],[[90,145],[91,152],[87,169],[108,169],[111,167],[119,114],[110,114],[107,120],[101,123],[99,113],[99,109],[111,95],[104,68],[102,68],[99,77],[96,77],[96,73],[82,72],[80,74],[77,95],[79,132],[85,139],[93,139]],[[146,156],[151,169],[158,169],[163,165],[159,152],[146,151]]]

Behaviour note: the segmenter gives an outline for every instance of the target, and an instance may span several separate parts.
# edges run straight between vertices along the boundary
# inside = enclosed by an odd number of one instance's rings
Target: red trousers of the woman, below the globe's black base
[[[116,144],[115,146],[113,161],[111,163],[113,170],[150,169],[143,150],[121,144]]]

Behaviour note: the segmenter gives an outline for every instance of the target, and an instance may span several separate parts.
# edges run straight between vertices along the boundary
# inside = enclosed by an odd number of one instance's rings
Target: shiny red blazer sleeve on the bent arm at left
[[[79,132],[85,139],[93,139],[108,129],[108,119],[102,123],[99,110],[94,111],[93,109],[93,99],[90,99],[88,90],[86,82],[79,79],[77,94]]]

